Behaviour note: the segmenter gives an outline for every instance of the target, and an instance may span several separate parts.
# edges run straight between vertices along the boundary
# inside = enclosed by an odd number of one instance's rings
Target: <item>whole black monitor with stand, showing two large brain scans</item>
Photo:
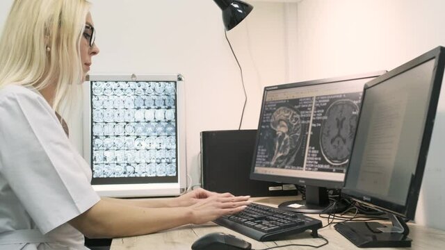
[[[327,188],[343,186],[364,84],[383,73],[264,88],[250,178],[306,187],[305,201],[280,208],[321,213],[330,206]]]

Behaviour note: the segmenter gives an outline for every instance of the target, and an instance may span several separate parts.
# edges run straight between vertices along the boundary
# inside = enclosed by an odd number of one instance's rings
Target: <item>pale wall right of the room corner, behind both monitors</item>
[[[442,0],[303,0],[297,30],[295,81],[394,69],[445,45]],[[444,94],[442,94],[444,96]],[[437,114],[416,221],[445,229],[445,97]],[[440,121],[440,122],[439,122]],[[439,139],[440,138],[440,139]],[[442,153],[443,154],[443,153]]]

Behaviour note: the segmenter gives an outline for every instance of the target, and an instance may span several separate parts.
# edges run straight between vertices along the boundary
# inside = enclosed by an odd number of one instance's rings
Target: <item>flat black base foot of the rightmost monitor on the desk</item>
[[[384,233],[378,222],[342,222],[334,228],[357,247],[411,247],[412,240],[404,233]]]

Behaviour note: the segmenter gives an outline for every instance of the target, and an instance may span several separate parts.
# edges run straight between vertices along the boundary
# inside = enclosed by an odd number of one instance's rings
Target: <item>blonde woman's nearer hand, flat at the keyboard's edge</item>
[[[250,196],[234,197],[232,194],[217,194],[201,199],[189,208],[193,211],[193,224],[202,224],[223,215],[232,215],[245,209],[251,202]]]

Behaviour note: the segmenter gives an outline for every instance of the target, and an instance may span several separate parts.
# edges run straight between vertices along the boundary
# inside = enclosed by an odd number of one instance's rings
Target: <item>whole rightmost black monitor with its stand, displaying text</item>
[[[359,247],[410,247],[445,65],[438,47],[367,83],[342,194],[386,211],[393,222],[335,228]],[[437,128],[435,128],[437,129]]]

